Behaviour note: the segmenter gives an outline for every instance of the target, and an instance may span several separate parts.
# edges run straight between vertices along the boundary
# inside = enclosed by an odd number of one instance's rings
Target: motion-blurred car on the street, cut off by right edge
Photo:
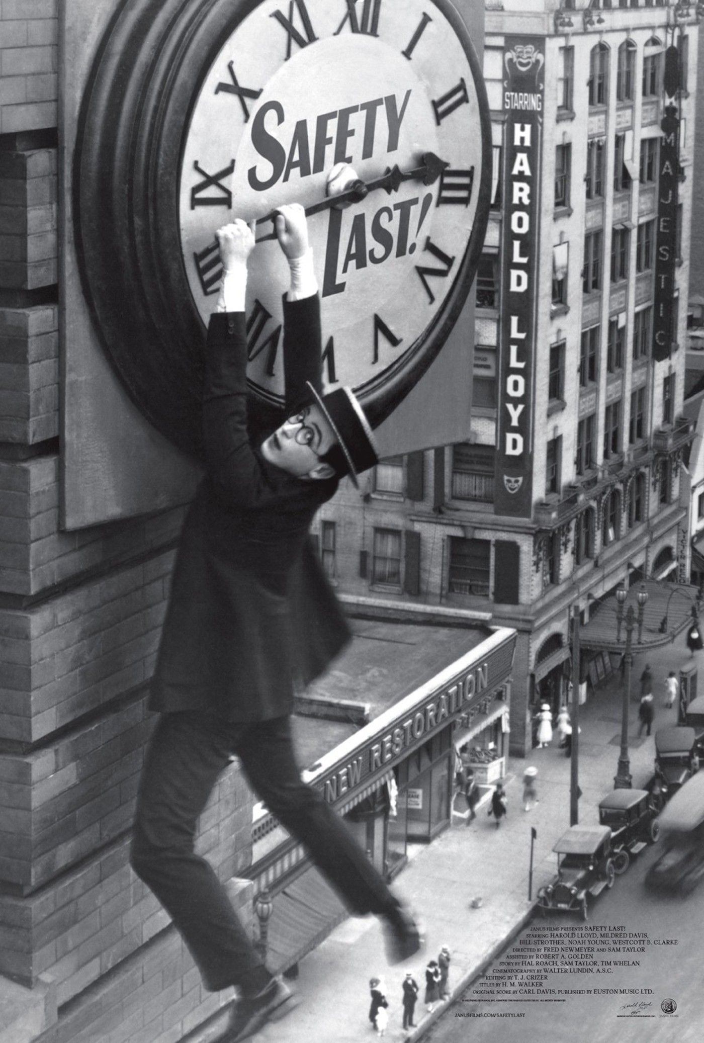
[[[704,876],[704,772],[688,779],[660,816],[662,854],[646,883],[688,894]]]

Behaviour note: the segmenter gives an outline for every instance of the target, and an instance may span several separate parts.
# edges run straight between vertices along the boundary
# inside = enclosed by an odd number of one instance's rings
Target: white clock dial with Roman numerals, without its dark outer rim
[[[285,202],[313,207],[337,163],[365,184],[395,166],[418,173],[309,218],[323,377],[364,395],[428,347],[462,277],[483,164],[481,106],[457,29],[428,0],[264,0],[244,18],[203,79],[183,155],[184,261],[203,320],[217,293],[219,224]],[[446,166],[427,172],[424,155]],[[287,282],[277,244],[262,243],[249,269],[248,375],[267,397],[283,393]]]

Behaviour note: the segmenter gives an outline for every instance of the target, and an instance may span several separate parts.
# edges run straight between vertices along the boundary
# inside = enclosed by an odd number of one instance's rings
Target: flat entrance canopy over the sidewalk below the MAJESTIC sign
[[[640,583],[634,584],[628,591],[624,603],[621,636],[617,635],[617,602],[615,593],[606,598],[587,624],[580,627],[580,644],[583,649],[596,649],[602,652],[623,652],[626,645],[626,612],[629,605],[633,606],[635,627],[633,630],[633,650],[638,648],[655,648],[667,645],[686,627],[691,620],[693,606],[697,606],[699,590],[687,583],[657,582],[646,580],[648,601],[644,610],[642,634],[638,642],[638,602],[637,593]]]

